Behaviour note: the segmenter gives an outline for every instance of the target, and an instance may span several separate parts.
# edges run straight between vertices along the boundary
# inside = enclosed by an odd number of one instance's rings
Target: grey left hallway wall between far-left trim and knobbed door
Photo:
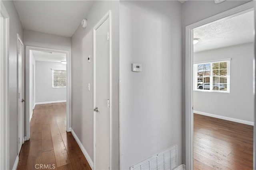
[[[3,1],[10,16],[10,52],[9,52],[9,102],[10,102],[10,169],[17,156],[17,33],[23,39],[22,25],[13,1]]]

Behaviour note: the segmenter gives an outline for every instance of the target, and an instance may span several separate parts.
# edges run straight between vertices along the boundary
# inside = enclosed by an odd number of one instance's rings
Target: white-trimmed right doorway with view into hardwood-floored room
[[[249,2],[186,27],[188,169],[253,169],[253,7]]]

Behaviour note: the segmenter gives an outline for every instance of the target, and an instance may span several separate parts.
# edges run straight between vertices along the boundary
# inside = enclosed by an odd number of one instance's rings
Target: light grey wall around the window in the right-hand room
[[[194,91],[194,110],[254,121],[254,43],[194,53],[194,62],[231,58],[230,93]]]

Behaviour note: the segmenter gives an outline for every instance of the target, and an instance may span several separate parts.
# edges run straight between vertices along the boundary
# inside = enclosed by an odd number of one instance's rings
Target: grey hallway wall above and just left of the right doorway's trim
[[[182,162],[186,162],[185,153],[185,28],[187,25],[204,20],[231,8],[250,2],[250,0],[226,0],[215,4],[214,0],[188,0],[182,4]]]

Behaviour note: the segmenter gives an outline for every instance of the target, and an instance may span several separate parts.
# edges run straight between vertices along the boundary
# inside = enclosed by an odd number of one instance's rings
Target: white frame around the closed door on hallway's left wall
[[[25,99],[25,93],[24,93],[24,84],[25,84],[25,77],[24,77],[24,68],[25,68],[25,56],[24,56],[24,44],[23,44],[23,42],[22,42],[22,40],[21,40],[21,38],[20,38],[20,35],[17,33],[17,83],[19,84],[19,53],[20,53],[20,49],[19,49],[19,43],[21,43],[21,45],[22,45],[22,48],[23,48],[23,50],[22,50],[22,79],[23,79],[23,85],[22,85],[22,94],[23,94],[23,96],[22,96],[22,98],[23,99]],[[19,113],[19,98],[18,98],[18,94],[19,94],[19,86],[17,86],[17,88],[18,88],[18,90],[17,90],[17,115],[18,115],[18,113]],[[26,111],[25,111],[25,104],[26,104],[26,100],[25,100],[25,103],[24,104],[22,104],[23,105],[23,111],[22,111],[22,144],[24,143],[24,114],[26,113]],[[18,127],[17,127],[17,132],[18,132]],[[18,138],[18,136],[19,136],[19,134],[17,133],[17,138]],[[17,154],[19,155],[19,153],[20,153],[20,150],[19,150],[19,148],[18,148],[18,143],[17,143]],[[21,149],[21,148],[20,148]]]

